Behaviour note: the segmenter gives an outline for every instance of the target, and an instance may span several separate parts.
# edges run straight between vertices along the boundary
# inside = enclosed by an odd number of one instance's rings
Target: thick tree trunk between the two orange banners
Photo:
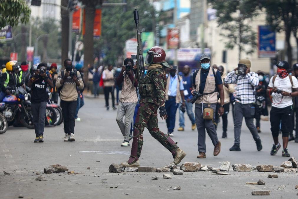
[[[85,7],[85,36],[84,36],[84,78],[88,81],[88,64],[93,66],[93,26],[95,7]]]

